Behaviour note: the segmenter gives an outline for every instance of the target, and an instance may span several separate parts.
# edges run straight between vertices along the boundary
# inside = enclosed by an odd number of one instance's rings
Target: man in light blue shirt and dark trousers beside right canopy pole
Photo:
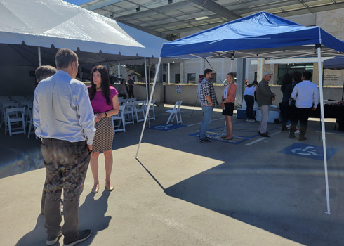
[[[289,138],[295,138],[295,129],[298,121],[300,121],[300,136],[299,140],[304,141],[308,116],[311,110],[316,110],[319,102],[319,91],[318,86],[310,81],[312,77],[311,72],[303,72],[301,79],[302,82],[296,84],[291,93],[291,98],[295,100],[295,119],[291,121],[291,127],[289,132]]]

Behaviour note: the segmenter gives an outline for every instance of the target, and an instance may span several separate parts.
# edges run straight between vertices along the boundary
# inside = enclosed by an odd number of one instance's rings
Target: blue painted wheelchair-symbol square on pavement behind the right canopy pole
[[[338,149],[336,148],[326,148],[327,160],[329,160],[334,154],[336,154],[337,151]],[[308,145],[304,143],[293,143],[289,147],[279,151],[279,153],[284,153],[286,155],[296,155],[315,160],[324,160],[324,151],[322,146]]]

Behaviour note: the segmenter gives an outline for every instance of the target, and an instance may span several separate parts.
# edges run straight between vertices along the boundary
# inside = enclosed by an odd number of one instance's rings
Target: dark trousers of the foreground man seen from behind
[[[46,167],[46,232],[54,238],[62,231],[65,242],[77,237],[79,218],[79,198],[84,189],[84,180],[90,162],[86,141],[71,143],[54,138],[43,138],[41,152]],[[60,223],[60,201],[63,189],[63,216]]]

